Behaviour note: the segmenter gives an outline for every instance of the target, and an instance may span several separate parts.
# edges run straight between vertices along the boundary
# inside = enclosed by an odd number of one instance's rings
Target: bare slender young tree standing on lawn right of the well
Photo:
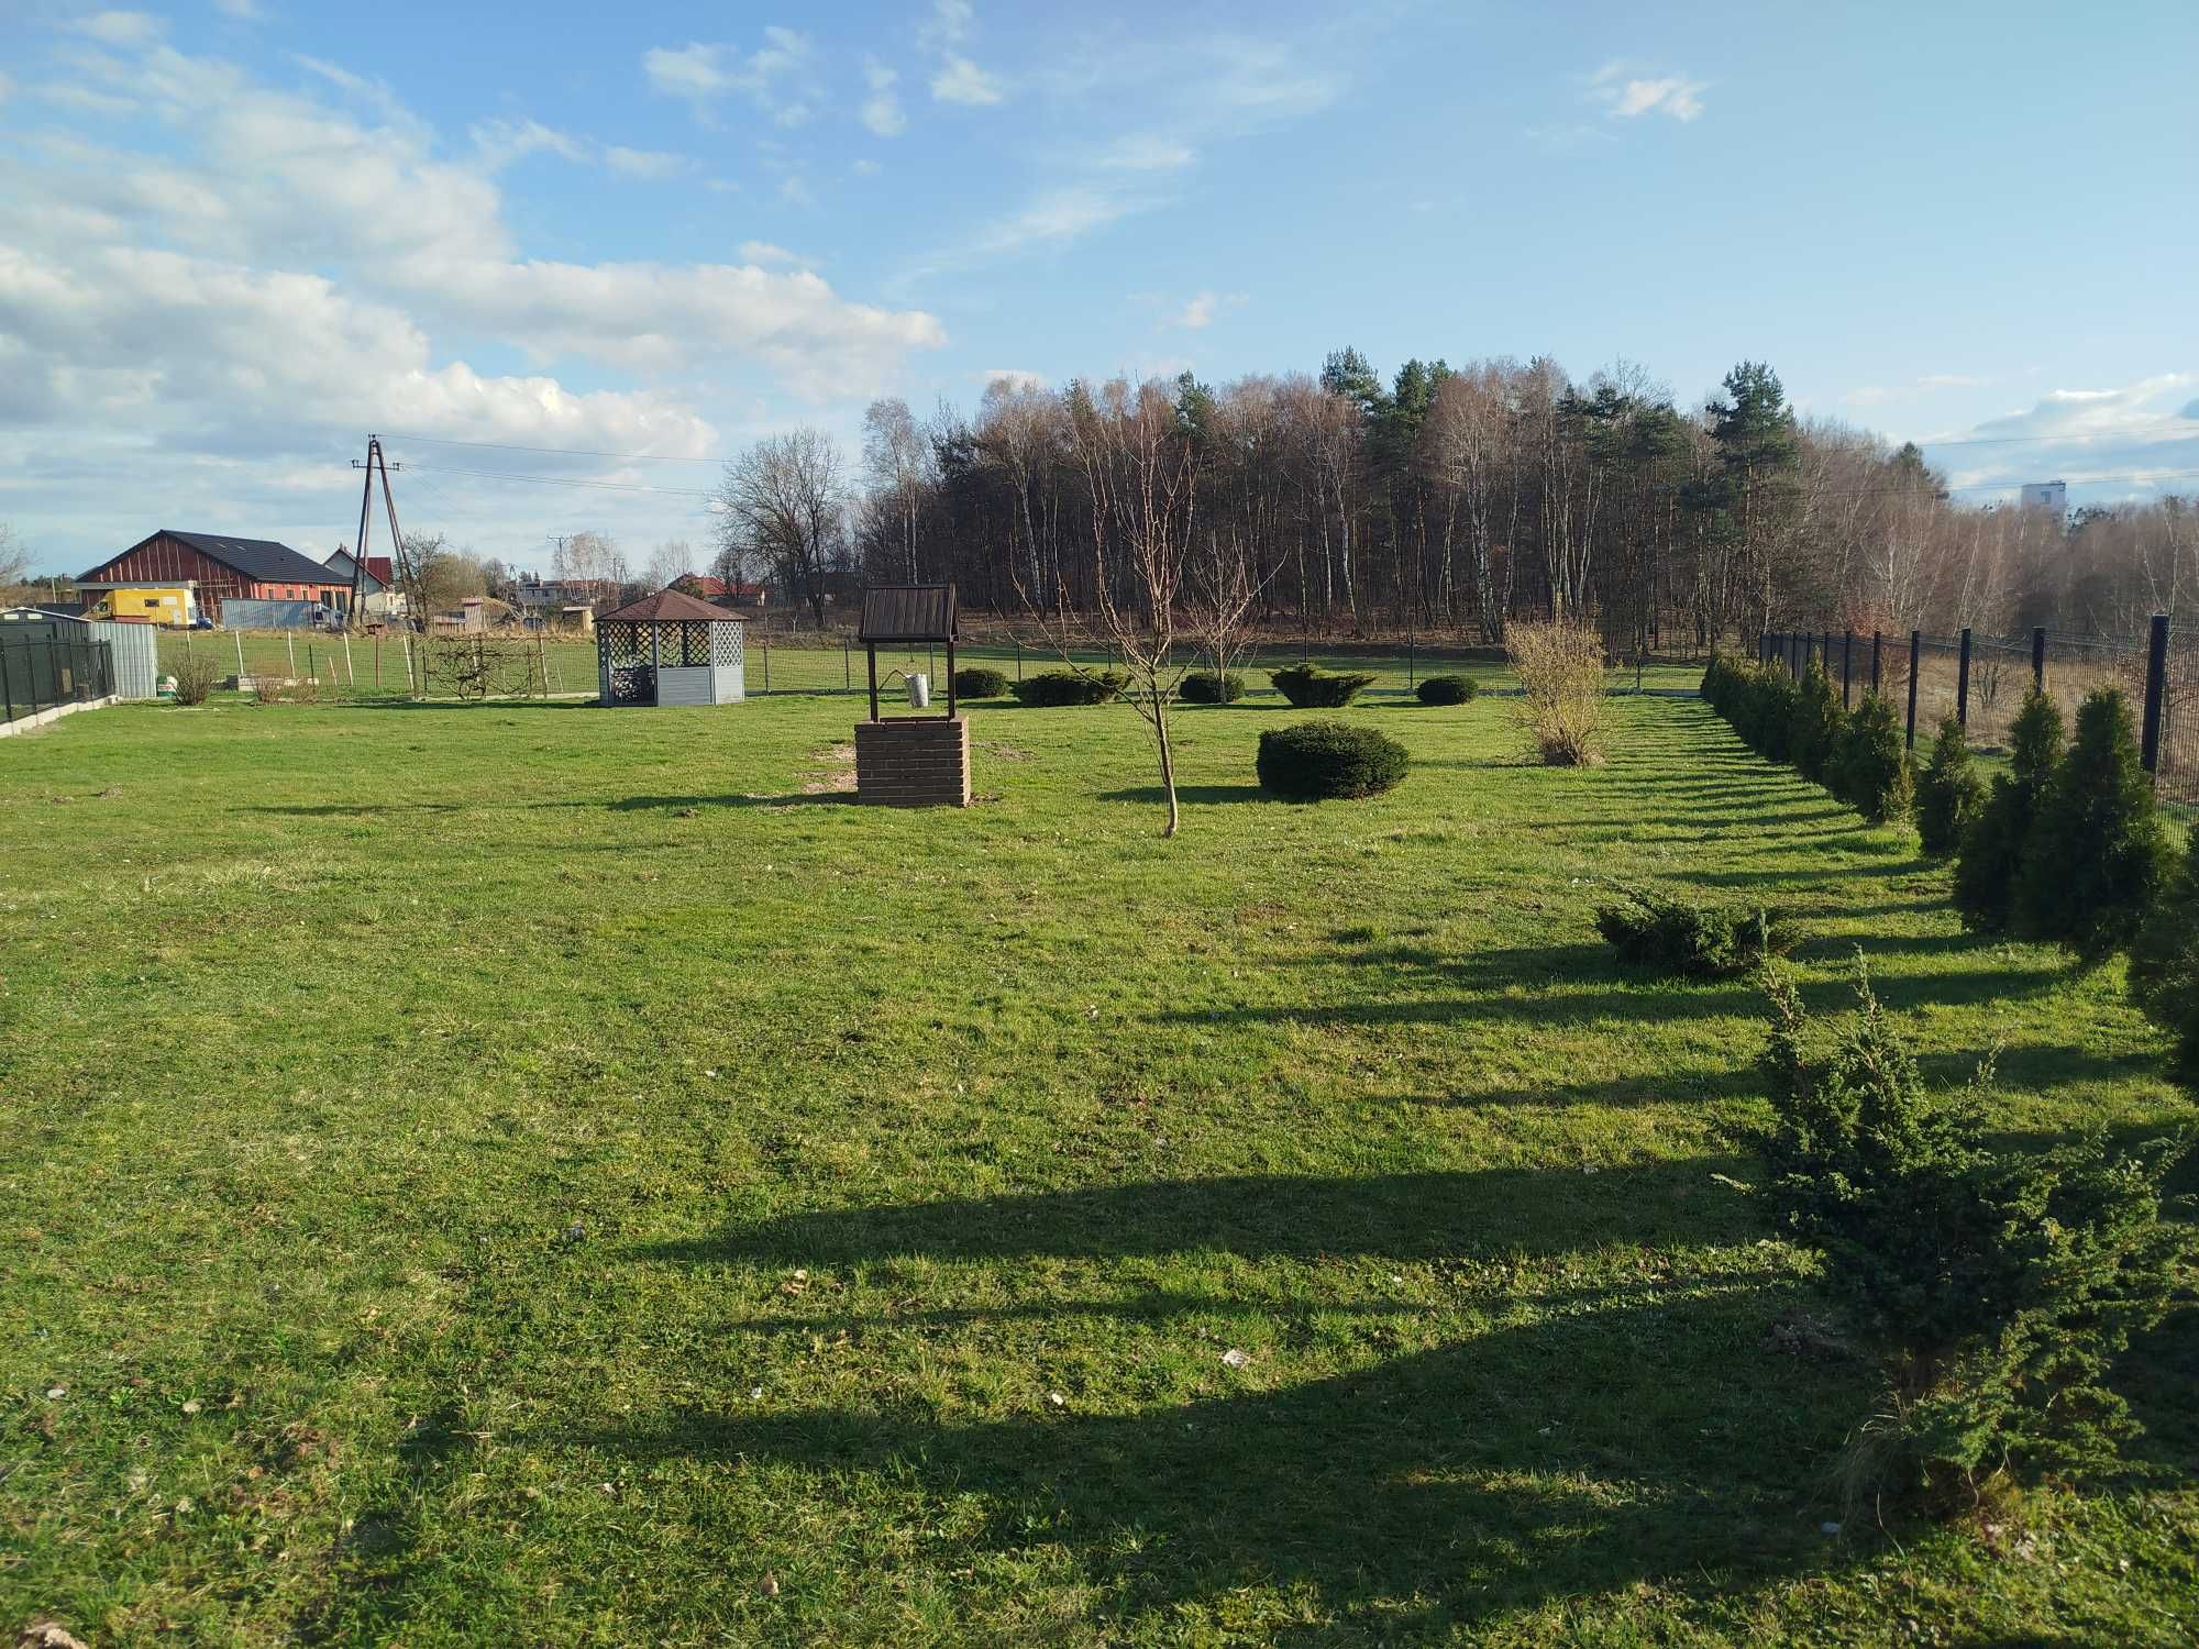
[[[1130,677],[1121,699],[1152,730],[1161,794],[1168,798],[1168,827],[1161,835],[1174,835],[1183,824],[1183,809],[1176,800],[1168,712],[1183,682],[1183,666],[1174,662],[1176,602],[1183,598],[1190,558],[1196,451],[1159,378],[1143,385],[1115,378],[1097,391],[1071,385],[1067,411],[1069,451],[1091,499],[1095,616]],[[1056,578],[1051,589],[1053,600],[1045,605],[1025,585],[1025,605],[1040,618],[1062,660],[1082,671],[1071,655],[1078,624],[1062,580]]]

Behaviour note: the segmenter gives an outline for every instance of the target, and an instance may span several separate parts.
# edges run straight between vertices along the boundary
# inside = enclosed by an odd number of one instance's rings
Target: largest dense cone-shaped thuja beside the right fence
[[[2100,961],[2137,937],[2170,864],[2131,701],[2122,688],[2093,688],[2078,706],[2069,754],[2038,792],[2014,926]]]

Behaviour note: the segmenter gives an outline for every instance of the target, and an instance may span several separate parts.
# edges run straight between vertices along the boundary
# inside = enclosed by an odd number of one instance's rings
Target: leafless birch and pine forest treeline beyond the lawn
[[[952,578],[972,609],[1091,609],[1115,512],[1080,453],[1100,385],[1001,378],[974,416],[877,400],[864,449],[778,435],[728,464],[723,576],[822,611],[851,578]],[[1150,389],[1150,387],[1148,387]],[[2129,635],[2199,591],[2199,512],[1957,501],[1918,446],[1794,413],[1739,363],[1682,409],[1636,367],[1407,361],[1161,385],[1192,486],[1174,532],[1242,556],[1256,616],[1319,633],[1502,640],[1522,616],[1590,618],[1621,651],[1764,629]]]

